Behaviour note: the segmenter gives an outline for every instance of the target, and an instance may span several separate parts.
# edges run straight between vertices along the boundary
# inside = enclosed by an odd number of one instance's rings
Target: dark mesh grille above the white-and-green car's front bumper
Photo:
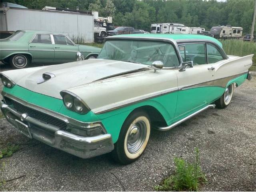
[[[20,113],[27,113],[28,116],[35,118],[41,122],[44,122],[46,124],[51,124],[54,125],[56,127],[59,127],[61,130],[66,130],[66,123],[62,120],[59,120],[57,118],[54,118],[50,115],[47,115],[45,113],[42,113],[40,111],[31,109],[27,106],[24,106],[14,100],[10,100],[9,98],[7,98],[6,100],[8,100],[9,102],[11,102],[11,104],[13,105],[14,109],[17,110]]]

